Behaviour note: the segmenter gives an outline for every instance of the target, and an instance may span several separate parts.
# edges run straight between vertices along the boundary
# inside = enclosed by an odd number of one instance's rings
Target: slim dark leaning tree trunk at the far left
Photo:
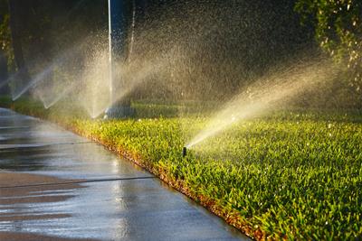
[[[9,0],[9,13],[10,13],[10,29],[12,33],[12,42],[14,49],[14,60],[18,71],[19,79],[21,79],[22,86],[31,80],[29,71],[24,61],[24,53],[21,42],[21,0]]]

